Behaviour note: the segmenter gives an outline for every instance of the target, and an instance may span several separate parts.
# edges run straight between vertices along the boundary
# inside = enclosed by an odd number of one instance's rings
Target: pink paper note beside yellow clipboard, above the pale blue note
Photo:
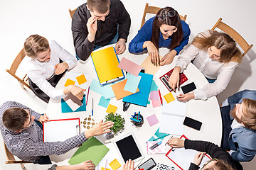
[[[142,67],[126,58],[122,58],[121,62],[118,64],[120,69],[124,69],[126,72],[133,74],[134,76],[138,76],[139,72],[141,71]]]

